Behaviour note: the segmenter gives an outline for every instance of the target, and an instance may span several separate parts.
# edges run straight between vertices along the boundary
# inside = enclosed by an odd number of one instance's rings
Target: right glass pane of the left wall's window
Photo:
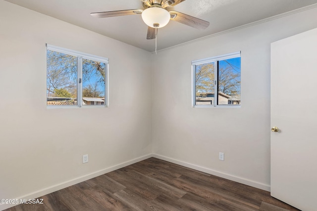
[[[105,105],[106,64],[83,59],[83,105]]]

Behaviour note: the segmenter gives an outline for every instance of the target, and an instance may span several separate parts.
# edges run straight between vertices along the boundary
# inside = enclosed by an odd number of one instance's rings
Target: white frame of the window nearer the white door
[[[225,60],[225,59],[232,59],[232,58],[241,58],[241,51],[236,51],[232,53],[226,53],[218,56],[213,56],[204,59],[198,59],[192,61],[192,107],[193,108],[240,108],[241,104],[239,105],[217,105],[217,103],[213,103],[213,105],[196,105],[196,66],[206,63],[214,62],[214,102],[218,102],[218,61]],[[241,90],[241,84],[240,84]],[[241,94],[240,94],[241,97]]]

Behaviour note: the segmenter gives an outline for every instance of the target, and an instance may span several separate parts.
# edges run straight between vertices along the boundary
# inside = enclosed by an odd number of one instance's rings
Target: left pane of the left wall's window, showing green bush
[[[47,105],[77,104],[77,57],[47,50]]]

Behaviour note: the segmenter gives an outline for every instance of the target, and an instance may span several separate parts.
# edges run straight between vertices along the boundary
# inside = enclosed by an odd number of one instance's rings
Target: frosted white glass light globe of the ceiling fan
[[[153,28],[162,28],[166,26],[170,20],[170,14],[166,9],[160,7],[150,7],[142,12],[144,23]],[[159,24],[158,27],[154,25]]]

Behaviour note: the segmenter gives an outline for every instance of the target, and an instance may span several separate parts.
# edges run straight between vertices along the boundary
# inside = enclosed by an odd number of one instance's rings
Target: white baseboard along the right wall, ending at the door
[[[205,173],[209,173],[209,174],[212,174],[212,175],[215,175],[215,176],[219,176],[219,177],[222,177],[222,178],[225,178],[225,179],[229,179],[229,180],[232,180],[232,181],[235,181],[235,182],[239,182],[239,183],[242,183],[242,184],[245,184],[245,185],[249,185],[249,186],[252,186],[252,187],[255,187],[255,188],[259,188],[259,189],[262,189],[262,190],[265,190],[265,191],[270,191],[270,185],[268,185],[268,184],[264,184],[264,183],[261,183],[261,182],[253,181],[253,180],[246,179],[246,178],[242,178],[242,177],[235,176],[235,175],[228,174],[228,173],[224,173],[224,172],[221,172],[221,171],[208,169],[208,168],[205,168],[205,167],[200,167],[200,166],[197,166],[197,165],[194,165],[194,164],[190,164],[190,163],[186,163],[186,162],[183,162],[183,161],[175,160],[175,159],[168,158],[168,157],[165,157],[165,156],[162,156],[162,155],[158,155],[158,154],[153,154],[153,157],[161,159],[161,160],[164,160],[164,161],[171,162],[173,164],[178,164],[178,165],[183,166],[183,167],[188,167],[188,168],[191,168],[191,169],[199,170],[199,171],[202,171],[202,172],[205,172]]]

